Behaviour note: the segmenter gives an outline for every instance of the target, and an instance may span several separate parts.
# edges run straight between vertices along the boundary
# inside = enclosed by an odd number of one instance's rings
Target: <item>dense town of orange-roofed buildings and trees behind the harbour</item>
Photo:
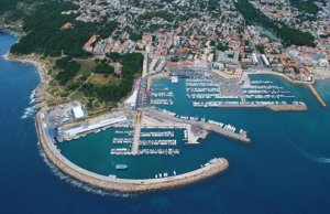
[[[295,24],[301,15],[297,8],[286,2],[252,1],[267,18],[286,21],[310,33],[315,38],[314,46],[284,46],[280,38],[261,25],[244,28],[244,18],[230,0],[219,4],[206,1],[96,1],[91,4],[84,0],[74,3],[79,9],[63,14],[78,14],[76,20],[84,22],[107,18],[109,22],[120,23],[108,38],[92,35],[86,41],[85,51],[97,55],[142,52],[151,73],[163,72],[176,62],[194,62],[232,77],[251,67],[312,82],[316,75],[329,69],[329,2],[318,3],[320,10],[312,20]],[[65,23],[63,28],[74,26]]]

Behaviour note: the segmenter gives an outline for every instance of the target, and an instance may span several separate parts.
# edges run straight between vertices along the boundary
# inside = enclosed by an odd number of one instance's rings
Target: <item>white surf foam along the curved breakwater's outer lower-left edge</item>
[[[40,142],[37,142],[37,149],[38,152],[41,154],[41,157],[43,158],[44,162],[50,167],[51,171],[58,176],[61,180],[69,183],[70,185],[75,186],[75,188],[80,188],[82,190],[85,190],[86,192],[89,193],[94,193],[94,194],[98,194],[98,195],[102,195],[102,196],[118,196],[118,197],[129,197],[129,196],[133,196],[134,194],[129,194],[129,193],[119,193],[119,192],[108,192],[108,191],[103,191],[100,189],[97,189],[95,186],[90,186],[88,184],[85,184],[80,181],[77,181],[75,179],[73,179],[72,176],[68,176],[66,174],[64,174],[54,163],[52,163],[45,152],[43,151]]]

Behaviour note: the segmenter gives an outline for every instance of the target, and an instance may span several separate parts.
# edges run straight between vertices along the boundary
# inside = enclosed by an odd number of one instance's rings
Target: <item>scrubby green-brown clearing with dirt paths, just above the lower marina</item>
[[[53,63],[48,84],[48,104],[77,99],[92,113],[107,111],[117,106],[132,89],[133,79],[141,75],[141,54],[119,54],[116,58],[48,57]],[[121,75],[102,73],[100,64],[122,64]],[[103,66],[101,66],[103,67]],[[105,67],[107,68],[107,67]]]

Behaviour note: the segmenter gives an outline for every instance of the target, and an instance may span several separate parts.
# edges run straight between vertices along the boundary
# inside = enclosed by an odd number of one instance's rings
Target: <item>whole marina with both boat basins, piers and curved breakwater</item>
[[[89,46],[97,38],[92,35],[84,45],[84,51],[90,52]],[[150,41],[148,36],[146,39]],[[133,43],[128,41],[127,44]],[[116,50],[122,53],[124,46]],[[133,79],[131,93],[110,108],[89,113],[92,99],[88,103],[68,99],[66,103],[40,107],[36,122],[41,145],[52,162],[70,176],[107,191],[119,192],[175,188],[184,185],[183,180],[186,183],[197,182],[229,167],[226,158],[215,156],[178,164],[189,157],[201,156],[198,150],[205,147],[204,141],[208,138],[218,135],[243,146],[253,142],[250,130],[241,127],[240,121],[224,119],[215,109],[308,109],[305,100],[292,87],[287,87],[287,83],[265,77],[263,72],[270,72],[266,68],[271,67],[271,63],[264,54],[253,53],[253,68],[243,68],[228,66],[227,63],[210,64],[211,57],[207,61],[190,58],[176,62],[152,58],[147,50],[140,50],[139,53],[140,60],[143,58],[142,76],[130,78]],[[229,64],[237,61],[239,52],[230,55],[234,58],[229,60]],[[258,67],[260,62],[262,64]],[[101,63],[107,63],[107,60]],[[124,77],[119,73],[117,75]],[[279,73],[276,75],[285,76]],[[287,76],[285,78],[289,79]],[[308,87],[326,106],[312,85]],[[101,96],[112,96],[112,92]],[[206,111],[206,108],[209,109]],[[79,145],[84,143],[90,150],[80,150]],[[68,149],[72,145],[78,148],[72,151]],[[142,170],[141,165],[145,168]]]

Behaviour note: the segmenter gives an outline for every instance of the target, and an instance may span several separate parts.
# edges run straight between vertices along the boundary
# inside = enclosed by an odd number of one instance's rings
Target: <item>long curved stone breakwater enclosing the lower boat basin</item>
[[[53,139],[45,129],[46,127],[43,113],[38,111],[35,119],[40,143],[51,162],[54,163],[65,174],[82,183],[105,191],[142,193],[173,189],[215,176],[227,170],[229,167],[229,162],[226,159],[216,158],[210,160],[200,169],[167,178],[133,180],[105,176],[79,168],[63,157],[56,149]]]

